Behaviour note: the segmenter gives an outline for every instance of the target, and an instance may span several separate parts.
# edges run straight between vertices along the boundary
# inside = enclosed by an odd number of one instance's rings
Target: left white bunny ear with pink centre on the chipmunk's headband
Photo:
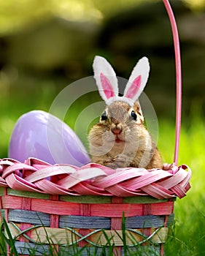
[[[104,99],[107,105],[115,101],[119,89],[115,71],[109,62],[101,56],[96,56],[93,61],[93,72],[102,99]]]

